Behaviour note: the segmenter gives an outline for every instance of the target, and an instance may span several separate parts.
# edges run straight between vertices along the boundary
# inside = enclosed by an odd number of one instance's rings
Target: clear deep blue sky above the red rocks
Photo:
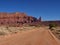
[[[24,12],[42,20],[60,20],[59,0],[0,0],[0,12]]]

